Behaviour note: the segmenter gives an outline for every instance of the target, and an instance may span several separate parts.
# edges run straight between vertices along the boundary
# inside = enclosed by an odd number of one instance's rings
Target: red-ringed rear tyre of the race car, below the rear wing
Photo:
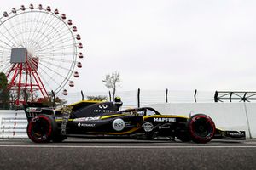
[[[26,133],[33,142],[47,143],[55,135],[57,125],[55,119],[49,115],[38,115],[28,122]]]

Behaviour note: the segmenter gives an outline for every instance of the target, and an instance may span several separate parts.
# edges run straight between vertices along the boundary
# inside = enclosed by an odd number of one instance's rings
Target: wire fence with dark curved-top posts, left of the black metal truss
[[[121,97],[124,106],[134,107],[150,104],[160,103],[213,103],[215,91],[174,91],[174,90],[145,90],[137,89],[130,91],[117,91],[116,96]],[[108,91],[105,92],[87,92],[83,91],[84,99],[86,96],[107,96],[109,99]],[[81,92],[69,93],[67,96],[60,95],[61,99],[66,99],[67,104],[78,102],[82,99]]]

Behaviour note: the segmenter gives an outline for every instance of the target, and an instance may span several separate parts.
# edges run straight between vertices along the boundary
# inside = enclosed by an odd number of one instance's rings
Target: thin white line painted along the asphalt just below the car
[[[195,146],[73,146],[73,145],[0,145],[0,147],[12,147],[12,148],[99,148],[99,149],[175,149],[175,148],[256,148],[256,146],[244,146],[244,145],[227,145],[227,146],[207,146],[207,145],[195,145]]]

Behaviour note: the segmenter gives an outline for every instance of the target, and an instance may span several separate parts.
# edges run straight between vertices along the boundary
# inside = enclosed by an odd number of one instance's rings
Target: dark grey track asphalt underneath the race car
[[[0,140],[0,169],[256,169],[256,140]]]

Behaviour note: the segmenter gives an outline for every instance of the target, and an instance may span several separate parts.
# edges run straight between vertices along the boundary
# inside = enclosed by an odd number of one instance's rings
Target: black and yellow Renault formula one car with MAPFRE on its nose
[[[180,139],[207,143],[211,139],[245,139],[244,131],[223,131],[204,114],[161,115],[150,107],[119,111],[122,102],[80,101],[54,110],[37,103],[25,105],[27,135],[33,142],[61,142],[67,137]]]

